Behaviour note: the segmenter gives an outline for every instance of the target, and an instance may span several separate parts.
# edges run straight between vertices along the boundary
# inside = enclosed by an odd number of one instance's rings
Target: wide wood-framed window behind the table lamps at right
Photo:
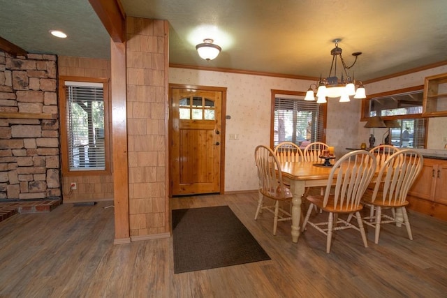
[[[423,87],[374,94],[364,100],[364,116],[396,120],[400,127],[383,135],[395,147],[425,148],[427,119],[422,118]]]

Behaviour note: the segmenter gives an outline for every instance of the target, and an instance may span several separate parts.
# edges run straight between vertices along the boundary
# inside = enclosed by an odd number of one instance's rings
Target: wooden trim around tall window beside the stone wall
[[[103,84],[103,98],[104,98],[104,154],[105,154],[105,170],[70,170],[69,155],[68,155],[68,131],[67,117],[66,117],[66,81],[72,82],[92,82]],[[59,123],[60,140],[61,140],[61,167],[64,176],[93,176],[93,175],[110,175],[110,141],[109,141],[109,80],[105,78],[96,77],[59,77]]]

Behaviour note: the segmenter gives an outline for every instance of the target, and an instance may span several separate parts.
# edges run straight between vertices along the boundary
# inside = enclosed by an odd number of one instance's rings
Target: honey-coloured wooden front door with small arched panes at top
[[[221,90],[170,88],[172,194],[221,192]]]

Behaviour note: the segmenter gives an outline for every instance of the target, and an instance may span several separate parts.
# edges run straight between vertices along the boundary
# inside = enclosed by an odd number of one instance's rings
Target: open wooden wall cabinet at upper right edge
[[[425,77],[422,116],[447,116],[447,73]]]

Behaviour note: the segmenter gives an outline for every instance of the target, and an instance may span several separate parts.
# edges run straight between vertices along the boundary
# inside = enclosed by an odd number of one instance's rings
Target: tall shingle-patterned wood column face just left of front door
[[[166,193],[166,21],[126,18],[131,241],[170,237]]]

